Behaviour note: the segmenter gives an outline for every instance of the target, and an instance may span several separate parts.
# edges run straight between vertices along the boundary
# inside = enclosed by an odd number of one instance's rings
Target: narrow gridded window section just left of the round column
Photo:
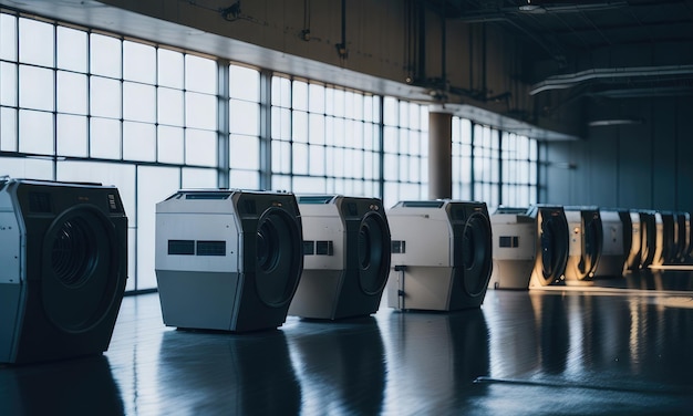
[[[383,204],[427,199],[428,107],[383,100]]]

